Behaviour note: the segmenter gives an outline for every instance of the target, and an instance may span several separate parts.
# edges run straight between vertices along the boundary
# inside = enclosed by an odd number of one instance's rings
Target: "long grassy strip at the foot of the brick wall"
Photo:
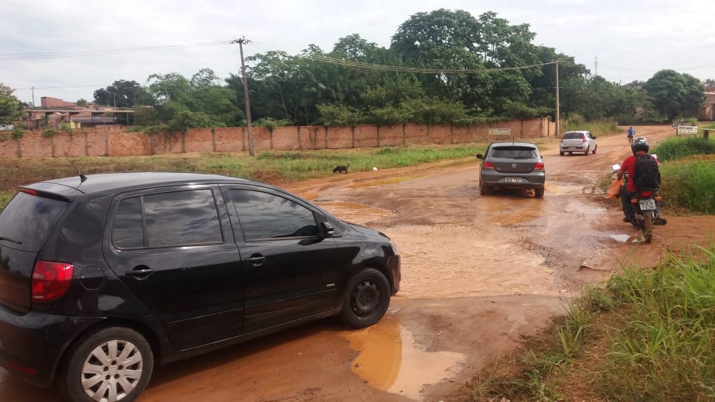
[[[15,193],[17,186],[47,179],[117,171],[198,171],[243,177],[279,185],[291,181],[330,176],[337,165],[350,164],[350,172],[373,167],[388,169],[415,166],[453,159],[455,164],[475,161],[485,144],[410,145],[383,148],[331,151],[265,151],[255,157],[247,154],[180,154],[161,156],[104,157],[85,156],[55,159],[0,160],[0,208]]]

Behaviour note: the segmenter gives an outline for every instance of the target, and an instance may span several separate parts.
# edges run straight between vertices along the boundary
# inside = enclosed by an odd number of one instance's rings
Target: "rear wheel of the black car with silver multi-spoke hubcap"
[[[95,351],[104,353],[107,360],[100,361]],[[87,392],[102,388],[104,396],[114,391],[117,401],[134,401],[149,383],[153,368],[154,354],[144,336],[121,326],[102,328],[82,336],[69,350],[59,388],[66,401],[98,401]],[[94,381],[83,384],[93,373]]]

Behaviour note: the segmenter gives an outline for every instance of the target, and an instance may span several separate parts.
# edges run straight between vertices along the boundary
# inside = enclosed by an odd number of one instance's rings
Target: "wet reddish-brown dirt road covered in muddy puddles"
[[[651,144],[672,134],[637,133]],[[159,367],[139,401],[439,401],[561,313],[585,283],[621,263],[654,266],[671,248],[706,243],[715,227],[711,216],[665,216],[653,243],[638,243],[598,188],[629,154],[625,134],[599,138],[589,156],[558,156],[554,141],[540,147],[544,199],[480,196],[477,159],[285,186],[397,243],[403,282],[387,316],[361,331],[328,319]],[[0,369],[0,400],[54,401],[54,390]]]

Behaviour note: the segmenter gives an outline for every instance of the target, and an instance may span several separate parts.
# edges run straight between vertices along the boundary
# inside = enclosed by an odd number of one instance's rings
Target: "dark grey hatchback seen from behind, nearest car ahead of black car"
[[[484,160],[479,171],[483,196],[492,189],[533,189],[537,199],[543,198],[546,170],[535,144],[495,142],[477,158]]]

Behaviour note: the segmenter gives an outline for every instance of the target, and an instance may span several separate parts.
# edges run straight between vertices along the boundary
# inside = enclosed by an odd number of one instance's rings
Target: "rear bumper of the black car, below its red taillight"
[[[30,383],[48,387],[66,346],[101,320],[34,311],[19,314],[0,307],[0,366]]]

